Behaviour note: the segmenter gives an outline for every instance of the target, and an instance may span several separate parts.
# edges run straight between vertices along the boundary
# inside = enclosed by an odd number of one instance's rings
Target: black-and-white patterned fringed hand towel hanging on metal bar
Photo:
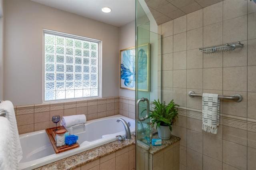
[[[220,100],[218,94],[203,93],[202,97],[202,129],[217,134],[220,124]]]

